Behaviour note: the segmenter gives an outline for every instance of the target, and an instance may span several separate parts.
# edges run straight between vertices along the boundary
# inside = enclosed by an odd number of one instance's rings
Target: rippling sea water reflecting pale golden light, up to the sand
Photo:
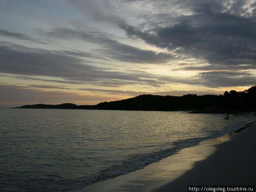
[[[0,109],[0,191],[67,191],[143,169],[253,114]]]

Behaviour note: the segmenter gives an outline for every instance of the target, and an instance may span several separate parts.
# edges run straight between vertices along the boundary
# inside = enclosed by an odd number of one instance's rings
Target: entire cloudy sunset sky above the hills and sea
[[[0,107],[254,85],[255,0],[0,0]]]

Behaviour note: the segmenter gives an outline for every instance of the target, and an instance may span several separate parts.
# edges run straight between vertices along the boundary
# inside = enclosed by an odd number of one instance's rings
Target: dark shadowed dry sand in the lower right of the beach
[[[187,185],[255,185],[256,123],[240,129],[239,133],[229,133],[231,139],[217,144],[207,159],[196,162],[181,177],[152,192],[186,191]]]

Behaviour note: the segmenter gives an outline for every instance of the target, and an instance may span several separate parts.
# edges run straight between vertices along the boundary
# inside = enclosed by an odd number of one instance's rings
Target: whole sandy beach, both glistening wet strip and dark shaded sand
[[[255,185],[256,124],[151,163],[144,169],[97,182],[76,192],[184,192],[188,185]]]

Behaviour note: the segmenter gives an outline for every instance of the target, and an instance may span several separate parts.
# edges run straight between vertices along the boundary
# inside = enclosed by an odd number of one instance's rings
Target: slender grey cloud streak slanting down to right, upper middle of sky
[[[102,46],[95,51],[110,57],[111,59],[129,62],[129,63],[147,63],[147,64],[165,64],[173,59],[170,53],[157,53],[153,50],[142,50],[130,45],[121,44],[120,42],[106,37],[100,32],[91,32],[86,30],[73,30],[68,28],[56,28],[49,32],[48,35],[64,39],[79,39]]]

